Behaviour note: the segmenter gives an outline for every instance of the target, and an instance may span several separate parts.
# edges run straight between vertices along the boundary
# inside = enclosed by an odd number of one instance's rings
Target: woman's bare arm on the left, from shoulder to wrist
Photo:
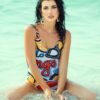
[[[46,90],[48,90],[49,93],[51,93],[49,86],[42,78],[42,75],[40,74],[36,64],[35,29],[32,26],[28,26],[25,28],[24,33],[25,55],[29,68],[43,91],[46,92]]]

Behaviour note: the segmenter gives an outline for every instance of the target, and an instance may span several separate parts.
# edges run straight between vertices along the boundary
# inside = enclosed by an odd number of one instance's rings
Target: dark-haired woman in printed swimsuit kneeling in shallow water
[[[64,90],[80,98],[95,100],[94,93],[67,79],[71,33],[65,29],[62,0],[39,0],[36,24],[25,29],[25,54],[28,64],[27,82],[8,94],[9,100],[20,100],[27,93],[43,91],[46,98],[64,98]]]

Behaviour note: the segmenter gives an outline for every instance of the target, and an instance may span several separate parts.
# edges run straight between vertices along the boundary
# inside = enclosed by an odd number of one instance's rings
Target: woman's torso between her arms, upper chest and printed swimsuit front
[[[34,26],[33,26],[34,27]],[[59,74],[59,58],[63,43],[58,34],[49,35],[35,27],[36,63],[44,80],[53,88]]]

